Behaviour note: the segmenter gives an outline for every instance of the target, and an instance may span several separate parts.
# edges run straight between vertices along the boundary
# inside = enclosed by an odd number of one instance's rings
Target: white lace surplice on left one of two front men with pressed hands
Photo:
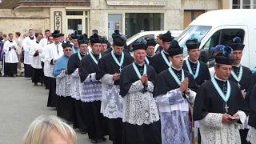
[[[124,97],[124,115],[122,122],[133,125],[149,125],[159,121],[158,107],[153,98],[154,84],[148,81],[146,93],[142,93],[144,86],[141,80],[134,82]]]

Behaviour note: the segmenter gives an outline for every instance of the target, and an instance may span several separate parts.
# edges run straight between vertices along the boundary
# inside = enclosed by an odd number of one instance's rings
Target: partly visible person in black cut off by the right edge
[[[254,73],[256,74],[256,73]],[[249,122],[248,125],[250,126],[250,129],[248,131],[248,135],[246,140],[250,142],[251,144],[256,143],[256,86],[254,86],[254,89],[252,90],[252,94],[250,97],[250,114],[249,114]]]

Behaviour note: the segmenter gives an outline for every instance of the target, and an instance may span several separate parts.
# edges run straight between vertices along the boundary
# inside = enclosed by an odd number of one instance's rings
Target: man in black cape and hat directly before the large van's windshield
[[[208,67],[204,62],[198,61],[200,55],[200,43],[201,42],[198,42],[198,39],[190,39],[186,41],[189,58],[184,61],[182,66],[183,70],[187,70],[193,75],[198,86],[210,79]]]

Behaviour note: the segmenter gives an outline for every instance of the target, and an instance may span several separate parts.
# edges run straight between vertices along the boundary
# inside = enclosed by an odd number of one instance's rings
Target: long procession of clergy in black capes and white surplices
[[[23,41],[25,77],[45,83],[47,106],[88,133],[90,142],[104,142],[109,135],[114,144],[256,143],[256,73],[240,64],[241,38],[212,48],[210,77],[198,61],[200,42],[186,41],[184,60],[170,31],[161,35],[158,54],[154,38],[134,42],[134,58],[118,30],[108,50],[98,34],[72,34],[71,42],[61,42],[58,30],[45,36],[31,34]],[[14,41],[5,43],[7,67],[15,47]]]

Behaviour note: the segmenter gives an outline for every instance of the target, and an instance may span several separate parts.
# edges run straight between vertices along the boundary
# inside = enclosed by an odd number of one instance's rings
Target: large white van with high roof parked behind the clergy
[[[214,74],[214,56],[211,47],[228,45],[232,38],[240,37],[245,44],[242,65],[256,66],[256,10],[214,10],[200,15],[178,36],[178,42],[187,55],[186,40],[197,38],[201,42],[200,58]]]

